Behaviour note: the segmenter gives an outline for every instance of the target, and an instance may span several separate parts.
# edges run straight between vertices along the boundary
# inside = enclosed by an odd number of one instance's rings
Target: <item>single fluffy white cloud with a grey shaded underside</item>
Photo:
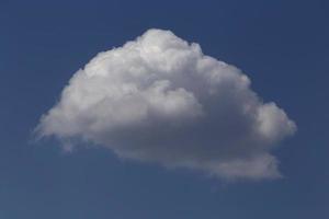
[[[295,129],[238,68],[162,30],[97,55],[36,128],[124,159],[250,180],[280,177],[271,151]]]

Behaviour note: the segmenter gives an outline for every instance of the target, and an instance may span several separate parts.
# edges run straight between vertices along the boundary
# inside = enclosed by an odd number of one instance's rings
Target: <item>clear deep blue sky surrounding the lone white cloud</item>
[[[329,218],[328,23],[326,0],[0,0],[0,218]],[[297,123],[274,152],[285,178],[226,184],[31,142],[76,70],[149,27],[238,66]]]

